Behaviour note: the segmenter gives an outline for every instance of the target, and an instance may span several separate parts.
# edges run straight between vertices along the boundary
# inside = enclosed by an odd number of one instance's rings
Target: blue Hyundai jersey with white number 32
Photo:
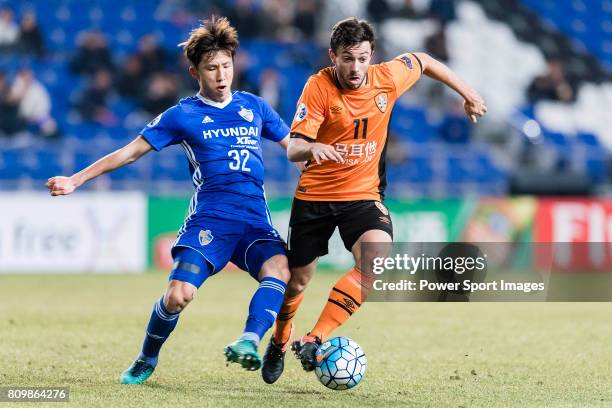
[[[152,120],[141,132],[157,151],[180,144],[195,186],[191,217],[267,220],[261,138],[289,134],[280,116],[260,97],[234,92],[227,104],[199,94]]]

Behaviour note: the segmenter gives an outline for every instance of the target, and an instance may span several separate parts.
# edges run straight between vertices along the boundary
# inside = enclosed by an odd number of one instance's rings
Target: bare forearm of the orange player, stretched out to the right
[[[442,82],[463,97],[463,108],[472,122],[476,123],[478,118],[487,112],[482,96],[461,80],[448,66],[423,52],[417,52],[414,55],[419,59],[425,75]]]

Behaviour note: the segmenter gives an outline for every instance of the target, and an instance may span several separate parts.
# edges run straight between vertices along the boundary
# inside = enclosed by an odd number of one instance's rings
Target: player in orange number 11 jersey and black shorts
[[[367,290],[362,288],[367,288],[369,274],[361,265],[371,265],[372,254],[362,254],[361,244],[392,241],[383,194],[389,120],[397,98],[425,74],[456,91],[472,121],[487,110],[474,89],[429,55],[406,53],[370,65],[373,52],[374,32],[366,21],[338,22],[330,40],[332,66],[309,78],[298,101],[287,155],[294,162],[307,161],[307,166],[291,209],[291,280],[264,356],[262,375],[267,383],[282,374],[292,319],[336,227],[355,267],[333,287],[315,326],[292,344],[306,371],[314,369],[321,341],[365,300]]]

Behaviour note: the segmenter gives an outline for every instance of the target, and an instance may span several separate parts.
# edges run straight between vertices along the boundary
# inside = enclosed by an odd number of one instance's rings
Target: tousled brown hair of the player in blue
[[[183,47],[185,57],[197,67],[203,57],[221,50],[229,51],[234,58],[239,45],[238,32],[227,18],[212,16],[191,30],[187,41],[180,43],[179,47]]]

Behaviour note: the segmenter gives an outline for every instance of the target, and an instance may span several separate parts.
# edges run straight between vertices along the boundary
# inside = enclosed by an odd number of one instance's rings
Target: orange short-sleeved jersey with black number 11
[[[422,73],[413,54],[368,69],[366,83],[342,89],[334,67],[312,75],[302,91],[291,133],[334,146],[345,162],[310,162],[295,196],[307,201],[381,200],[391,110]]]

